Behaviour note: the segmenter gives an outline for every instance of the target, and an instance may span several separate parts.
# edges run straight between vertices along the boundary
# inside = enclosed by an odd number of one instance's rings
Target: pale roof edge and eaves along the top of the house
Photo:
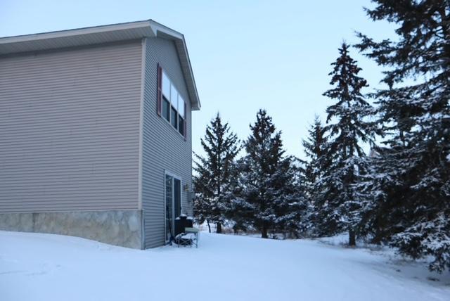
[[[181,69],[186,79],[192,109],[200,110],[200,99],[198,98],[184,35],[153,20],[1,37],[0,55],[142,39],[144,37],[162,37],[174,41],[180,58]]]

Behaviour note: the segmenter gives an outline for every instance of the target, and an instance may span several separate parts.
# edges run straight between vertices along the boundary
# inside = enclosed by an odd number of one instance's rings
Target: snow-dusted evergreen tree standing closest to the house
[[[217,224],[217,233],[226,220],[226,194],[231,189],[233,161],[240,151],[238,137],[230,132],[228,123],[222,124],[216,117],[207,125],[205,137],[201,139],[205,157],[194,153],[196,192],[194,212],[198,222]],[[210,229],[211,231],[211,229]]]

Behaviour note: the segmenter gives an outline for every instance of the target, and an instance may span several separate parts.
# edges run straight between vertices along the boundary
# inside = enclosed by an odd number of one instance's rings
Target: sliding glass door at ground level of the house
[[[181,214],[181,179],[173,174],[165,174],[165,239],[174,236],[175,219]]]

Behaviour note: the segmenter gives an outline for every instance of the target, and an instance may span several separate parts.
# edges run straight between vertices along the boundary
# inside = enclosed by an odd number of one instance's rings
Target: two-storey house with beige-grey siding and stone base
[[[164,245],[193,110],[184,36],[153,20],[0,38],[0,229]]]

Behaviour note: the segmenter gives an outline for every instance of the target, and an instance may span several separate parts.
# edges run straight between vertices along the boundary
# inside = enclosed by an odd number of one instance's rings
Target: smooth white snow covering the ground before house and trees
[[[450,300],[448,271],[392,252],[201,235],[198,249],[131,250],[0,231],[0,300]]]

